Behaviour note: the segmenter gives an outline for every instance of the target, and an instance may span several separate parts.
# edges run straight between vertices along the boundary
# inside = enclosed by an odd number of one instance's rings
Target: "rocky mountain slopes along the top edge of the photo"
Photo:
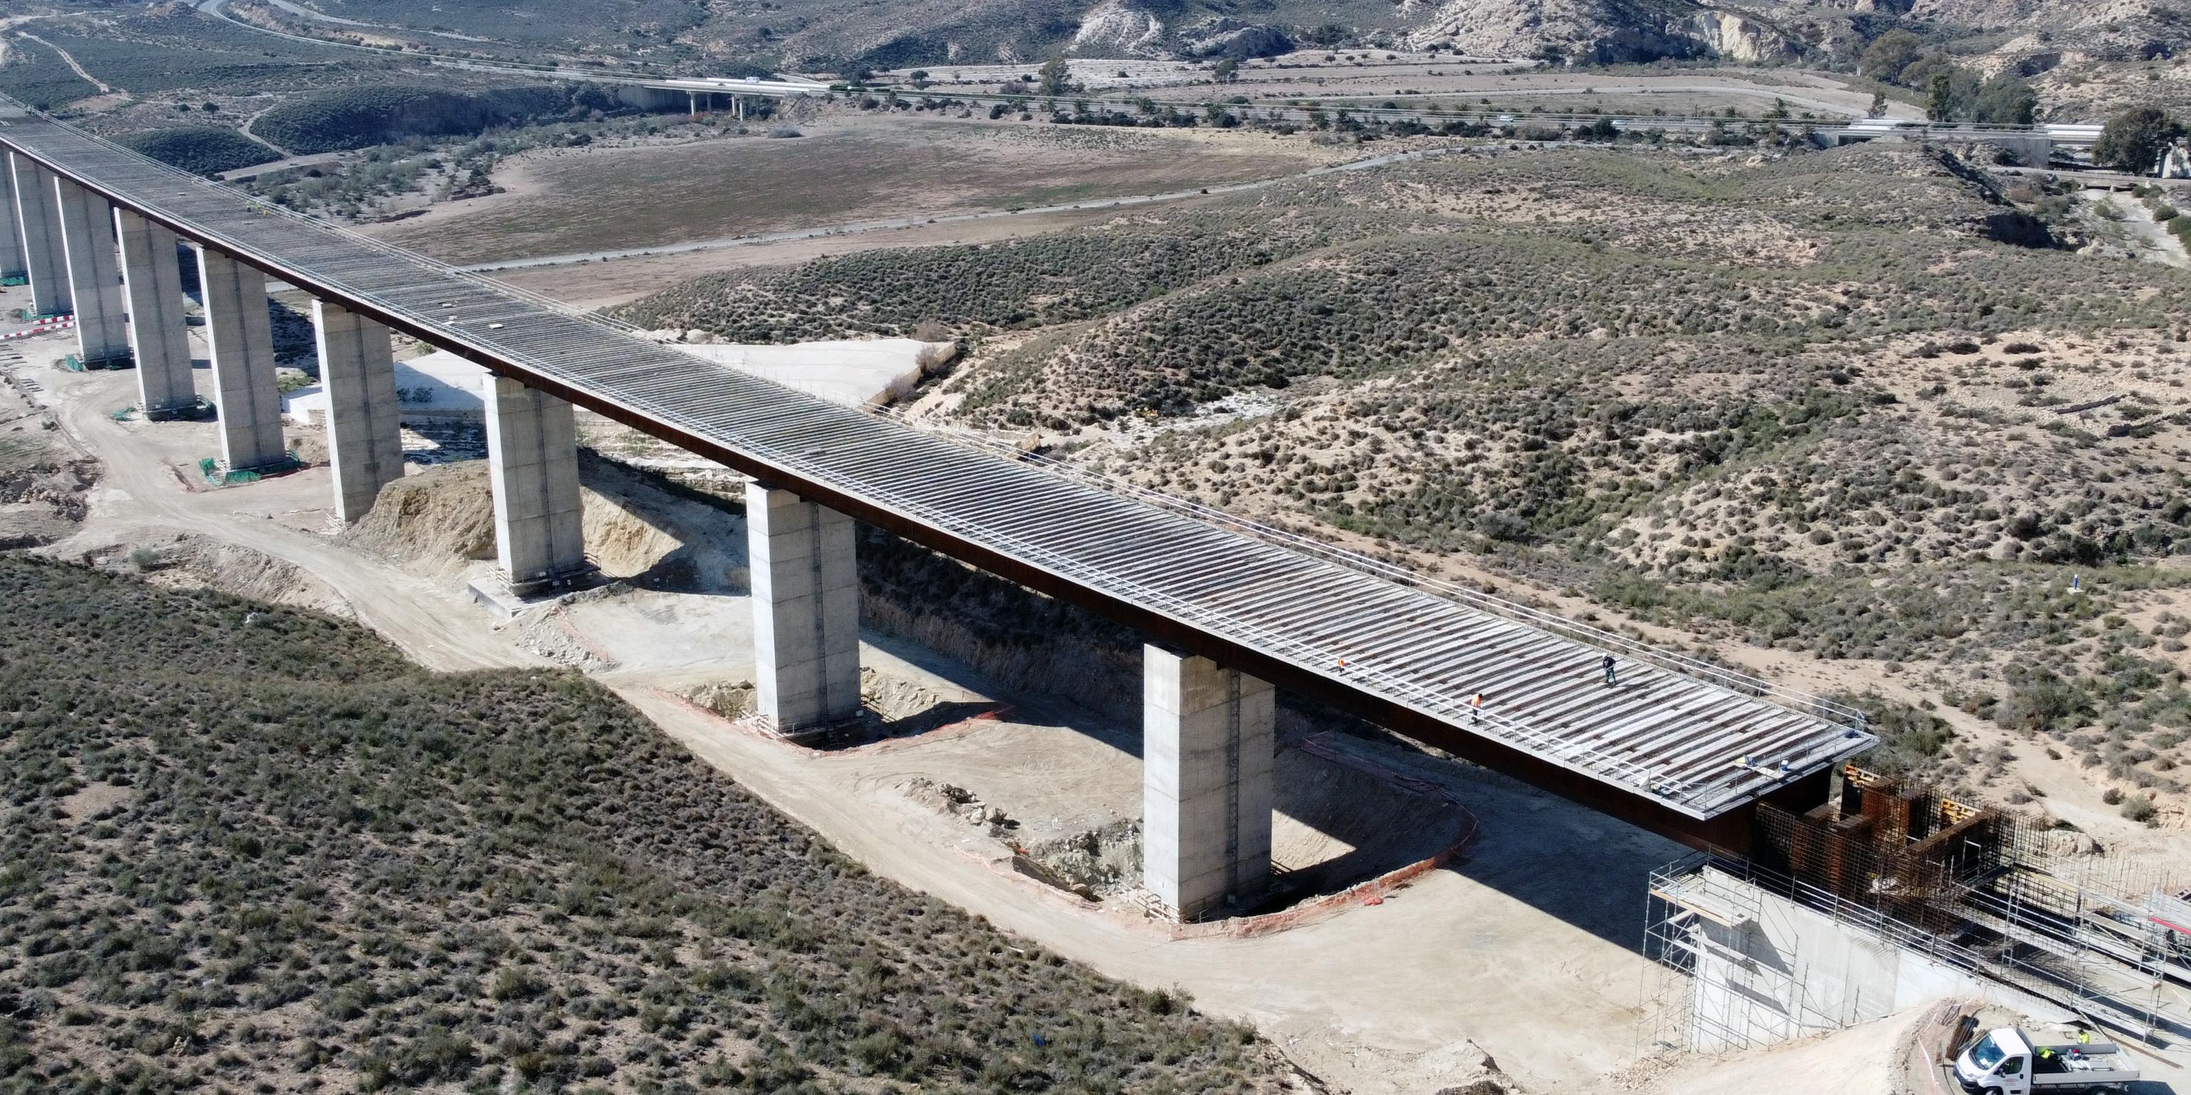
[[[230,9],[313,31],[324,20],[403,28],[436,46],[500,42],[808,72],[1032,64],[1058,48],[1247,59],[1350,46],[1556,64],[1854,66],[1880,35],[1911,31],[1985,74],[2035,77],[2191,48],[2191,0],[613,0],[554,13],[511,0],[230,0]]]

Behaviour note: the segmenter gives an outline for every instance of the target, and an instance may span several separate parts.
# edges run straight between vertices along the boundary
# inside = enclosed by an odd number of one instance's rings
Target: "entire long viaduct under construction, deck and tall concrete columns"
[[[74,313],[85,359],[134,359],[149,416],[204,394],[230,469],[285,456],[267,278],[316,298],[346,521],[403,473],[390,331],[493,372],[495,541],[515,591],[587,569],[574,405],[749,475],[758,714],[780,731],[859,714],[854,519],[1137,629],[1144,883],[1179,918],[1251,907],[1269,885],[1275,688],[1731,852],[1757,802],[1819,804],[1827,771],[1875,742],[1816,696],[830,405],[4,99],[0,153],[0,274],[26,274],[39,311]],[[204,287],[210,392],[193,390],[177,241]]]

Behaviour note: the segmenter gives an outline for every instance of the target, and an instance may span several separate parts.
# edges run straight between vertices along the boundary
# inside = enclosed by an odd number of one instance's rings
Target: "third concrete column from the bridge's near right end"
[[[511,591],[530,593],[585,572],[576,414],[508,377],[486,377],[482,394],[495,552]]]

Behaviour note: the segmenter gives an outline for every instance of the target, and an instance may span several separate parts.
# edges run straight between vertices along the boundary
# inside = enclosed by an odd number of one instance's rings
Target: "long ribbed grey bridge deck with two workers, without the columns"
[[[1413,712],[1691,819],[1873,745],[1847,707],[824,403],[35,112],[0,110],[0,145],[300,289],[771,484],[918,530],[968,561],[1003,563],[1043,589],[1082,591],[1251,672]],[[1621,657],[1619,688],[1602,683],[1606,650]],[[1488,699],[1472,714],[1477,692]]]

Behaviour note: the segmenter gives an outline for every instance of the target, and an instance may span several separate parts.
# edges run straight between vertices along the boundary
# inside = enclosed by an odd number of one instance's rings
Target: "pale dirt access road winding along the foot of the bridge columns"
[[[50,359],[64,348],[59,339],[46,342],[55,346],[44,353],[31,346],[26,357]],[[454,583],[421,578],[335,539],[324,469],[188,491],[175,466],[195,464],[208,449],[210,425],[112,420],[110,412],[134,396],[127,372],[37,377],[72,442],[107,469],[90,521],[55,554],[167,543],[177,532],[210,537],[324,583],[362,622],[425,666],[543,664],[515,629],[497,629],[467,604]],[[706,600],[714,602],[712,620],[738,615],[730,598]],[[572,620],[598,629],[592,639],[603,646],[620,639],[609,633],[616,615],[587,618],[574,609]],[[721,646],[732,650],[736,642]],[[863,661],[881,668],[909,661],[883,646],[868,644]],[[627,664],[600,679],[664,731],[872,869],[1113,977],[1185,988],[1209,1012],[1258,1023],[1334,1088],[1431,1093],[1477,1075],[1488,1051],[1529,1091],[1582,1093],[1599,1091],[1604,1073],[1630,1062],[1645,972],[1632,950],[1643,874],[1678,854],[1656,837],[1492,773],[1400,758],[1418,764],[1420,777],[1450,786],[1481,821],[1483,834],[1461,863],[1376,907],[1343,907],[1284,933],[1174,940],[1161,924],[1082,909],[938,839],[931,819],[892,806],[894,786],[918,764],[942,764],[953,749],[1010,758],[1045,734],[1074,734],[1071,725],[1019,723],[999,725],[997,738],[916,740],[914,749],[925,753],[817,756],[730,729],[662,692],[695,675],[721,679],[749,670],[734,657],[695,664],[686,648],[662,666]],[[920,661],[936,666],[933,657]],[[955,681],[979,683],[968,670],[942,668]]]

